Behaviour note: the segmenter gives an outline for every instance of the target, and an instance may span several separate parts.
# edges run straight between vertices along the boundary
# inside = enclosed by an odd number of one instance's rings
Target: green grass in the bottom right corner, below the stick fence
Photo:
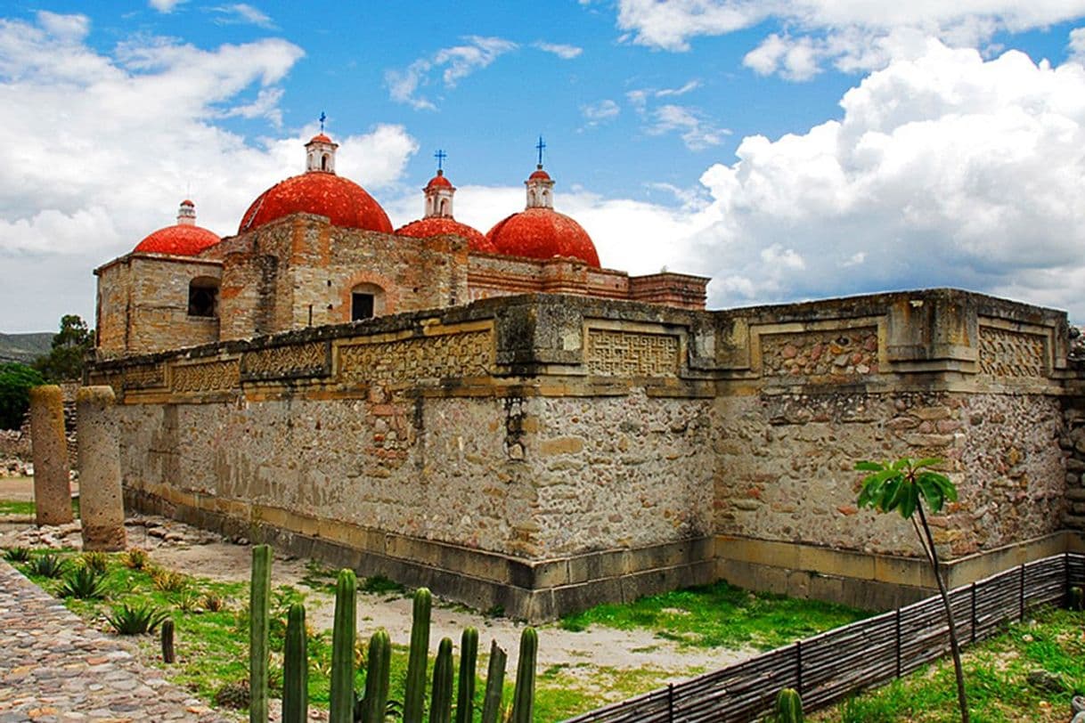
[[[1064,723],[1070,698],[1085,693],[1085,615],[1048,610],[966,650],[965,686],[973,723]],[[1060,690],[1038,689],[1032,671],[1061,681]],[[841,723],[952,723],[960,720],[949,660],[819,712],[815,721]]]

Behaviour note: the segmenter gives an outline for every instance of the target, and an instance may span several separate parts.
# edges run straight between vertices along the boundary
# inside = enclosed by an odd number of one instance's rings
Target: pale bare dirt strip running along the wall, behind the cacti
[[[33,500],[33,480],[0,478],[0,500]],[[224,541],[217,535],[193,534],[192,528],[171,520],[164,522],[177,539],[150,537],[148,527],[129,527],[129,544],[151,548],[151,558],[163,567],[181,570],[188,574],[221,581],[246,581],[250,576],[251,547]],[[25,534],[28,526],[7,524],[0,526],[0,546],[18,544],[16,535]],[[214,540],[214,541],[212,541]],[[78,544],[78,534],[69,533],[64,544]],[[307,593],[306,612],[310,624],[330,629],[334,612],[334,597],[330,593],[312,591],[302,579],[308,572],[306,560],[277,556],[272,566],[272,583],[290,584]],[[388,631],[392,641],[406,644],[410,640],[411,599],[403,595],[358,595],[358,631],[363,636],[378,627]],[[436,653],[442,637],[457,644],[463,628],[478,630],[480,648],[488,649],[489,641],[509,651],[510,671],[515,663],[523,624],[508,618],[487,617],[448,601],[435,601],[431,628],[431,645]],[[616,670],[655,670],[663,676],[660,684],[677,682],[694,674],[722,668],[742,660],[753,650],[709,650],[681,648],[672,641],[656,637],[651,631],[621,631],[593,625],[584,632],[562,630],[550,623],[539,627],[539,669],[561,666],[566,672],[589,682],[592,671],[603,668]]]

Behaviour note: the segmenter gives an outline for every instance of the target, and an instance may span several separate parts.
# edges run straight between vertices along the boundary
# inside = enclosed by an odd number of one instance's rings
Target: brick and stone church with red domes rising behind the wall
[[[423,217],[393,231],[381,205],[335,173],[339,146],[321,131],[305,144],[305,172],[257,196],[237,235],[196,225],[186,199],[176,225],[97,269],[99,351],[161,351],[526,293],[704,308],[707,279],[602,268],[587,232],[554,210],[539,146],[524,210],[486,235],[456,220],[456,188],[441,168],[423,190]]]

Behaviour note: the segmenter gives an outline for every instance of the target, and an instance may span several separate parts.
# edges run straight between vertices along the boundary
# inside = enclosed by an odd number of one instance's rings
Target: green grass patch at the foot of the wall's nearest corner
[[[681,646],[769,650],[870,615],[843,605],[751,593],[716,582],[650,595],[630,605],[599,605],[567,616],[560,624],[571,631],[592,624],[639,628]]]

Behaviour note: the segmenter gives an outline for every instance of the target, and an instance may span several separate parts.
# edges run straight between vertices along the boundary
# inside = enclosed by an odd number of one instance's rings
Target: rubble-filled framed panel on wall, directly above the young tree
[[[878,373],[878,328],[834,328],[761,337],[764,376],[861,376]]]

